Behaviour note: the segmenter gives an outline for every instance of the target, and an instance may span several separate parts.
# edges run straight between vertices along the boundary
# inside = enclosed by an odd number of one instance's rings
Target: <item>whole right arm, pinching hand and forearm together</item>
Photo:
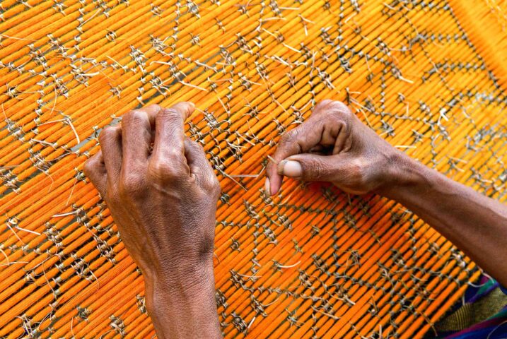
[[[281,137],[273,159],[267,168],[268,194],[279,191],[285,176],[332,182],[351,194],[386,196],[507,286],[507,207],[412,160],[342,102],[320,102],[309,119]]]

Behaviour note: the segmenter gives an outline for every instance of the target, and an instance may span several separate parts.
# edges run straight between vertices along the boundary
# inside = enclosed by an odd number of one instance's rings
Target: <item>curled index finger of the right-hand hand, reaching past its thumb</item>
[[[276,167],[286,157],[305,153],[320,143],[323,124],[321,120],[308,119],[300,126],[281,136],[278,146],[267,165],[266,191],[269,195],[276,194],[281,186],[282,176]]]

